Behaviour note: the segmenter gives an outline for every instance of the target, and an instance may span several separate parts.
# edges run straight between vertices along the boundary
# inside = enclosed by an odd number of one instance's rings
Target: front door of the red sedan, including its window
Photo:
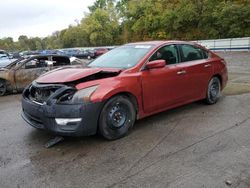
[[[186,70],[179,63],[176,45],[167,45],[157,50],[149,61],[164,59],[164,68],[143,70],[142,91],[143,105],[146,113],[161,111],[176,105],[187,97]]]

